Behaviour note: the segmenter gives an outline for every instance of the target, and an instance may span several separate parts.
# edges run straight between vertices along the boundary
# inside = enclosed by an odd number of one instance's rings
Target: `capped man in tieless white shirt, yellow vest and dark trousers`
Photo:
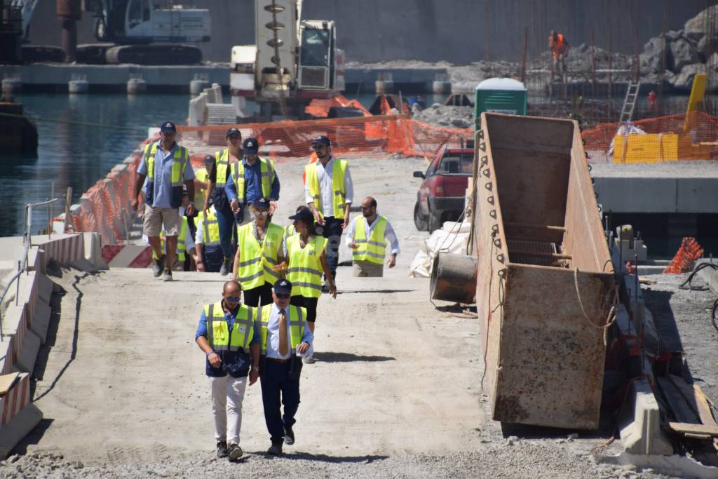
[[[327,259],[332,279],[339,264],[339,244],[342,231],[349,225],[349,208],[354,197],[352,175],[345,159],[332,154],[332,142],[320,135],[312,140],[312,149],[317,153],[317,162],[304,167],[307,181],[304,183],[304,197],[314,214],[314,220],[322,226],[322,236],[329,240]],[[322,286],[328,291],[328,280]]]

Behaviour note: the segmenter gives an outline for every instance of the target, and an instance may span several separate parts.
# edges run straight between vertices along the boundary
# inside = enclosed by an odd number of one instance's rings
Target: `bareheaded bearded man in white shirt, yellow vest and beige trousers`
[[[361,216],[357,216],[347,227],[347,246],[352,251],[354,276],[383,276],[386,245],[391,244],[391,253],[386,266],[396,266],[399,242],[391,223],[376,213],[376,200],[365,197],[361,202]]]

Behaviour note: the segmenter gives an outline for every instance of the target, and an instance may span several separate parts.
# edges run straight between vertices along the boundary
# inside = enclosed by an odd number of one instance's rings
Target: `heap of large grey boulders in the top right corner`
[[[641,77],[658,82],[665,65],[663,78],[673,88],[690,90],[696,73],[708,73],[709,88],[718,88],[717,46],[718,5],[713,5],[689,19],[678,32],[671,30],[648,40],[640,54]]]

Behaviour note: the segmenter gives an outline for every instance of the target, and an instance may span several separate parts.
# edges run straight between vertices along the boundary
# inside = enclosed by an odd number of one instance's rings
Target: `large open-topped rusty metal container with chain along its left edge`
[[[493,419],[596,429],[615,278],[575,121],[482,113],[470,247]]]

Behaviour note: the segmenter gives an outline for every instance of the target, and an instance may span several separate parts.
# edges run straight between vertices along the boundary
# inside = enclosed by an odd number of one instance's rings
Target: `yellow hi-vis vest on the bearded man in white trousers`
[[[254,335],[253,325],[257,320],[256,308],[241,304],[231,333],[222,302],[205,304],[204,311],[207,318],[207,341],[213,351],[248,350]]]

